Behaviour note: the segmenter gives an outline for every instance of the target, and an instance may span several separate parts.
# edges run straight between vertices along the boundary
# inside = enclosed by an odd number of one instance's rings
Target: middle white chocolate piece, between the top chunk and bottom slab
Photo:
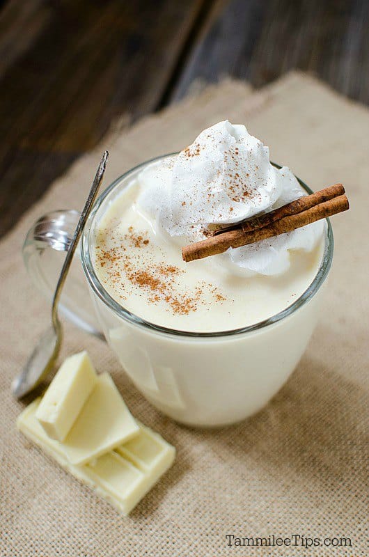
[[[95,387],[61,447],[71,464],[86,464],[139,434],[139,426],[108,373]]]

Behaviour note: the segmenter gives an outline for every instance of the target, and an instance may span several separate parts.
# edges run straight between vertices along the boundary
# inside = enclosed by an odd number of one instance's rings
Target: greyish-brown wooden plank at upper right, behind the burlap
[[[368,29],[367,0],[230,0],[198,36],[171,100],[194,79],[260,87],[299,68],[369,103]]]

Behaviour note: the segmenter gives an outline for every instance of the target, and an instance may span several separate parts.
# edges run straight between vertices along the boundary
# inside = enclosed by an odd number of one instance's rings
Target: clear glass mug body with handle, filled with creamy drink
[[[101,215],[152,160],[123,174],[97,199],[81,238],[81,265],[74,269],[79,275],[68,277],[61,311],[81,329],[105,338],[137,389],[164,414],[187,425],[229,425],[262,409],[304,353],[331,267],[331,226],[328,221],[324,255],[313,282],[293,304],[269,319],[215,333],[183,332],[146,322],[104,290],[91,252]],[[49,297],[61,269],[61,251],[68,248],[78,217],[77,211],[48,214],[26,237],[26,267]]]

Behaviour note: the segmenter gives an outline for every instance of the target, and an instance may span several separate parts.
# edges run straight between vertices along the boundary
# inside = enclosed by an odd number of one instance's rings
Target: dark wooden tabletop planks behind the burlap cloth
[[[369,102],[368,0],[0,3],[0,235],[101,139],[225,75],[290,68]]]

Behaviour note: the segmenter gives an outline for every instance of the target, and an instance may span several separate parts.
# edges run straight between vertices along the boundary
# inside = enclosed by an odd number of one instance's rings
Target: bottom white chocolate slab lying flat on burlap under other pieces
[[[40,399],[37,399],[24,409],[17,418],[18,429],[123,515],[128,515],[173,463],[175,448],[140,424],[139,434],[118,450],[112,450],[90,464],[70,464],[61,444],[49,439],[38,422],[36,411],[39,405]],[[130,455],[129,460],[124,456],[125,451]],[[134,464],[134,460],[139,464]]]

